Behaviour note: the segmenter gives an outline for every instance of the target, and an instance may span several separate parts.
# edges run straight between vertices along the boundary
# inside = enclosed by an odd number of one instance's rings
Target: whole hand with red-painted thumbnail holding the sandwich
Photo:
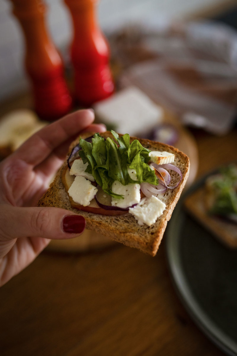
[[[0,163],[0,286],[20,272],[50,239],[70,239],[85,219],[69,210],[39,208],[37,201],[82,131],[106,131],[92,124],[92,110],[80,110],[45,126]]]

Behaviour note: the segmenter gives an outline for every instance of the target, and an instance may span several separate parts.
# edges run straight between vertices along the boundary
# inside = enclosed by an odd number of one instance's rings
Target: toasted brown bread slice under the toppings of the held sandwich
[[[81,135],[81,137],[86,138],[91,135],[93,135],[93,133],[87,132],[86,134]],[[102,133],[101,136],[105,138],[113,138],[112,133],[109,131]],[[68,156],[70,155],[72,148],[79,143],[79,139],[80,138],[78,137],[71,143]],[[135,139],[135,137],[130,137],[130,142]],[[139,225],[134,216],[129,213],[119,216],[105,216],[72,208],[68,194],[65,191],[61,180],[61,175],[67,166],[67,161],[64,162],[63,166],[56,174],[54,182],[50,184],[47,192],[39,200],[38,206],[58,206],[59,208],[71,210],[75,214],[85,217],[87,229],[94,230],[111,238],[112,240],[121,242],[126,246],[138,248],[142,252],[155,256],[163,237],[167,221],[171,218],[172,211],[181,195],[185,182],[187,181],[189,173],[189,158],[183,152],[172,146],[146,139],[139,139],[139,141],[142,146],[151,151],[167,151],[174,153],[175,159],[173,164],[182,172],[182,180],[178,187],[166,190],[162,198],[163,202],[166,204],[166,209],[157,219],[155,224],[151,226],[147,226],[145,224]],[[172,185],[175,185],[180,177],[177,173],[173,173],[173,171],[171,172],[171,176],[173,178]]]

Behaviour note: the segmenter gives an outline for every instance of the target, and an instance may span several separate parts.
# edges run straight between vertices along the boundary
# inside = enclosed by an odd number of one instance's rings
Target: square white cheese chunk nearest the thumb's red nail
[[[90,180],[82,176],[76,176],[74,182],[68,190],[68,194],[75,203],[87,206],[95,197],[98,189],[91,184]]]

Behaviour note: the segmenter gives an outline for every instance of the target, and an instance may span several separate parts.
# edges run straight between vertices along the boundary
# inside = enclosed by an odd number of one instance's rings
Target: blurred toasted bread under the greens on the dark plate
[[[208,214],[205,203],[206,190],[204,185],[190,194],[184,206],[199,223],[227,247],[237,248],[237,225],[215,215]]]

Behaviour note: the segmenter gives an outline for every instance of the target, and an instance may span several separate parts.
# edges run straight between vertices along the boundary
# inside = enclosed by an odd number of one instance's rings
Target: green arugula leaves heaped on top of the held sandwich
[[[79,155],[84,163],[88,162],[86,171],[93,174],[96,183],[114,198],[123,198],[111,190],[115,180],[123,185],[142,182],[157,185],[155,171],[147,164],[150,150],[143,147],[138,140],[130,144],[128,133],[121,137],[115,131],[111,130],[111,133],[119,145],[110,137],[104,140],[99,133],[95,133],[92,143],[80,139],[82,151],[79,151]],[[128,167],[135,169],[137,180],[129,177]]]

